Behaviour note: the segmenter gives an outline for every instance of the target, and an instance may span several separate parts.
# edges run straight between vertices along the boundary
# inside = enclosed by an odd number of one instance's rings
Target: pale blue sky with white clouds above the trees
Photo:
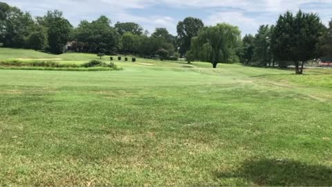
[[[176,24],[185,17],[199,17],[206,25],[227,22],[242,34],[256,33],[261,24],[274,24],[278,15],[302,9],[320,15],[324,24],[332,18],[332,0],[0,0],[34,16],[47,10],[62,10],[74,26],[82,19],[106,15],[111,21],[133,21],[150,32],[165,27],[176,34]]]

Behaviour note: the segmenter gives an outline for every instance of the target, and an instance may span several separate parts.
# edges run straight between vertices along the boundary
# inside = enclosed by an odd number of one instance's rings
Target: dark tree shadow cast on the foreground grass
[[[218,178],[243,178],[258,186],[332,186],[332,168],[298,161],[246,161],[235,172],[215,172]]]

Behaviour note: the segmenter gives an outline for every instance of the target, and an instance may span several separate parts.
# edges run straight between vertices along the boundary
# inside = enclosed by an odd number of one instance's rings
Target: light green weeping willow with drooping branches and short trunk
[[[218,24],[205,27],[192,38],[190,53],[196,60],[210,62],[216,68],[221,62],[230,62],[240,40],[241,31],[237,26]]]

